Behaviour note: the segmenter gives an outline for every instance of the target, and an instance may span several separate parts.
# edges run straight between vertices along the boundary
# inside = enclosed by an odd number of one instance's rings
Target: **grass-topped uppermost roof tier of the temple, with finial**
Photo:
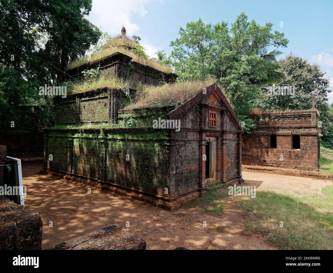
[[[100,71],[107,70],[112,77],[148,85],[174,83],[178,77],[171,68],[147,59],[143,48],[126,34],[124,27],[122,34],[108,41],[100,52],[94,53],[89,59],[84,57],[72,63],[66,73],[79,79],[83,76],[82,71],[98,68]]]

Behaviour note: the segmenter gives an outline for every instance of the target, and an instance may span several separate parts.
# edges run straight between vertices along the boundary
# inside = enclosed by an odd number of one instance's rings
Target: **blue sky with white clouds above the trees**
[[[167,54],[169,43],[178,37],[179,27],[199,17],[207,23],[233,23],[241,12],[260,25],[274,24],[290,40],[286,54],[292,52],[317,62],[333,87],[333,1],[176,1],[176,0],[93,0],[89,18],[102,31],[118,34],[125,25],[130,35],[141,37],[141,45],[153,57],[157,50]],[[283,22],[283,27],[280,27]],[[321,60],[318,60],[318,55]],[[333,92],[332,92],[333,93]],[[330,93],[330,103],[333,94]]]

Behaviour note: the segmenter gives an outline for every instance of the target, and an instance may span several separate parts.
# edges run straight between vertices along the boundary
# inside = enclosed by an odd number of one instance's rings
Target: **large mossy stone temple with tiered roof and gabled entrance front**
[[[157,87],[172,88],[177,78],[120,52],[67,73],[76,78],[98,67]],[[153,105],[125,107],[137,92],[103,87],[55,99],[44,170],[169,210],[202,196],[208,185],[243,181],[241,126],[215,83],[188,90],[187,100],[157,96]]]

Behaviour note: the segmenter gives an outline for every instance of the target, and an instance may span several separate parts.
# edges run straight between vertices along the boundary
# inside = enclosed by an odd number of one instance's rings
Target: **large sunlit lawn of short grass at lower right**
[[[246,228],[282,249],[333,249],[333,186],[322,193],[282,189],[238,196],[236,204],[255,216]],[[281,221],[283,227],[280,227]]]

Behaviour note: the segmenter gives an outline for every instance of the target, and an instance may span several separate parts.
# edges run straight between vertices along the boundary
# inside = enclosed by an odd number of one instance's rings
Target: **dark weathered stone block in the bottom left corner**
[[[42,249],[43,222],[37,212],[0,197],[0,249]]]

